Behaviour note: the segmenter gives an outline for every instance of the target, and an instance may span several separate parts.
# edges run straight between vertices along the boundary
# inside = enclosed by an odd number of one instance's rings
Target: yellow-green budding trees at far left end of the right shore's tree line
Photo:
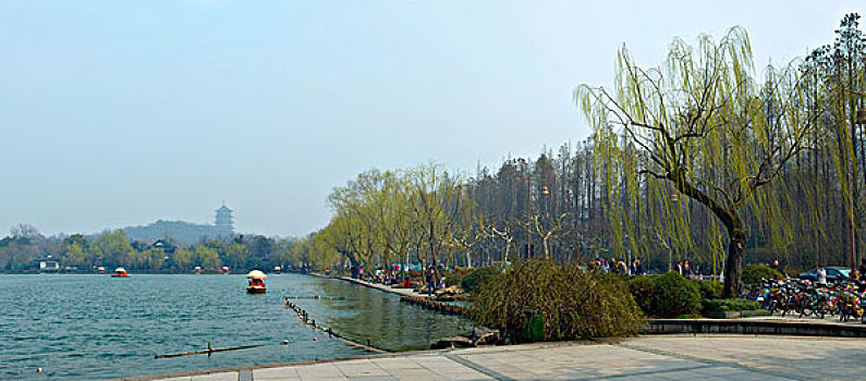
[[[353,269],[407,260],[437,266],[453,262],[477,242],[474,202],[464,182],[436,164],[364,172],[334,189],[328,202],[334,217],[297,243],[295,257]]]

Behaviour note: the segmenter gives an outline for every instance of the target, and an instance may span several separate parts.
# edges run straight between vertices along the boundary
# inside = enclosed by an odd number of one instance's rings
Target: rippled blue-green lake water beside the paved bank
[[[248,295],[243,274],[0,275],[0,380],[112,379],[369,354],[301,324],[284,296],[317,323],[389,349],[427,348],[472,328],[343,281],[281,274],[266,283],[266,294]],[[208,343],[265,346],[154,358]]]

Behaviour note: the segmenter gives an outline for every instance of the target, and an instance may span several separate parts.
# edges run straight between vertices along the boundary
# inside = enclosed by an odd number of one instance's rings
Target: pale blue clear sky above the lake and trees
[[[861,1],[0,0],[0,235],[158,219],[298,236],[370,168],[473,175],[589,127],[623,44],[746,28],[758,71]]]

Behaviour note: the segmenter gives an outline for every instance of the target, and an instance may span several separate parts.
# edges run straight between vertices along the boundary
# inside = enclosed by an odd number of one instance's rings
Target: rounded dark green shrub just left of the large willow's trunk
[[[698,286],[673,271],[656,276],[651,314],[671,318],[694,315],[700,309]]]

